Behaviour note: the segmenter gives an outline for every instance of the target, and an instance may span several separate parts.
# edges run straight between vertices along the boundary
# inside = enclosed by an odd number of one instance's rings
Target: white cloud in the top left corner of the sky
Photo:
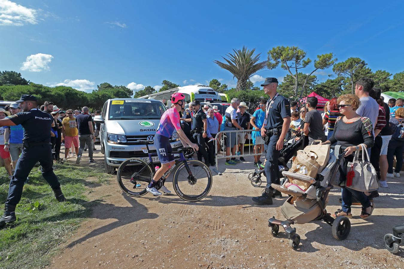
[[[10,0],[0,0],[0,25],[23,26],[37,24],[37,10],[21,6]]]

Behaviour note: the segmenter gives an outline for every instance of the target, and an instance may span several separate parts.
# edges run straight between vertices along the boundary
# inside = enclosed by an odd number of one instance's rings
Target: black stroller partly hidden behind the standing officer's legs
[[[279,163],[279,172],[278,172],[278,179],[276,183],[280,183],[280,179],[283,177],[282,172],[283,171],[288,171],[289,168],[287,166],[288,161],[290,161],[290,158],[294,156],[299,149],[299,147],[302,145],[303,139],[295,140],[295,138],[292,138],[288,141],[286,141],[283,144],[283,148],[280,151],[280,156],[278,158],[278,163]],[[255,169],[254,172],[250,173],[248,175],[248,179],[251,181],[251,185],[254,187],[259,187],[262,184],[261,176],[265,175],[265,171],[262,169],[259,169],[258,167]],[[283,182],[281,182],[281,185]],[[281,195],[282,196],[282,195]]]

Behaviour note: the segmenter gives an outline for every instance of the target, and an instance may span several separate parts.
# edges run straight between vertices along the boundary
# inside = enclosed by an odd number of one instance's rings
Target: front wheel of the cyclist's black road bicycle
[[[212,188],[212,172],[201,161],[187,161],[191,174],[188,173],[185,163],[181,163],[173,176],[173,187],[179,197],[188,202],[199,201],[204,198]]]

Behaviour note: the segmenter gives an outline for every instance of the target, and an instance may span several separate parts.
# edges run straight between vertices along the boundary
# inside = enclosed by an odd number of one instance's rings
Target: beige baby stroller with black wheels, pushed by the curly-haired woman
[[[290,227],[294,223],[305,224],[310,221],[324,221],[331,226],[332,236],[338,240],[344,240],[351,230],[351,222],[345,216],[339,216],[336,219],[330,216],[326,211],[328,193],[333,187],[331,184],[335,179],[338,167],[343,162],[343,152],[345,147],[331,146],[334,154],[330,154],[328,164],[322,171],[318,171],[316,179],[307,175],[283,171],[282,174],[288,178],[293,178],[308,184],[307,190],[299,188],[286,188],[285,184],[289,182],[286,179],[284,184],[271,184],[272,188],[279,190],[290,197],[281,207],[282,214],[286,217],[285,221],[280,221],[271,217],[268,220],[268,226],[272,236],[278,235],[279,225],[285,229],[289,238],[289,246],[296,249],[300,243],[300,236],[296,234],[296,228]]]

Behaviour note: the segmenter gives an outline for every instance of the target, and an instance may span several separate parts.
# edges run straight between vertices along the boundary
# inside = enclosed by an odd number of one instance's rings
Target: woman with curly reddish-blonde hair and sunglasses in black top
[[[347,162],[353,161],[352,153],[356,150],[366,150],[374,144],[373,139],[373,127],[369,118],[360,117],[356,114],[356,110],[359,107],[360,100],[358,96],[353,94],[344,94],[337,100],[338,108],[342,117],[338,117],[334,127],[334,133],[332,137],[322,144],[334,144],[347,147],[345,150],[345,162],[343,169],[346,171]],[[360,144],[365,145],[365,149],[362,149]],[[346,173],[345,173],[346,175]],[[375,205],[369,201],[368,197],[363,192],[352,190],[349,187],[343,187],[342,193],[342,209],[338,209],[332,217],[346,216],[352,217],[351,204],[352,195],[357,198],[362,204],[362,213],[360,217],[367,219],[372,215]]]

